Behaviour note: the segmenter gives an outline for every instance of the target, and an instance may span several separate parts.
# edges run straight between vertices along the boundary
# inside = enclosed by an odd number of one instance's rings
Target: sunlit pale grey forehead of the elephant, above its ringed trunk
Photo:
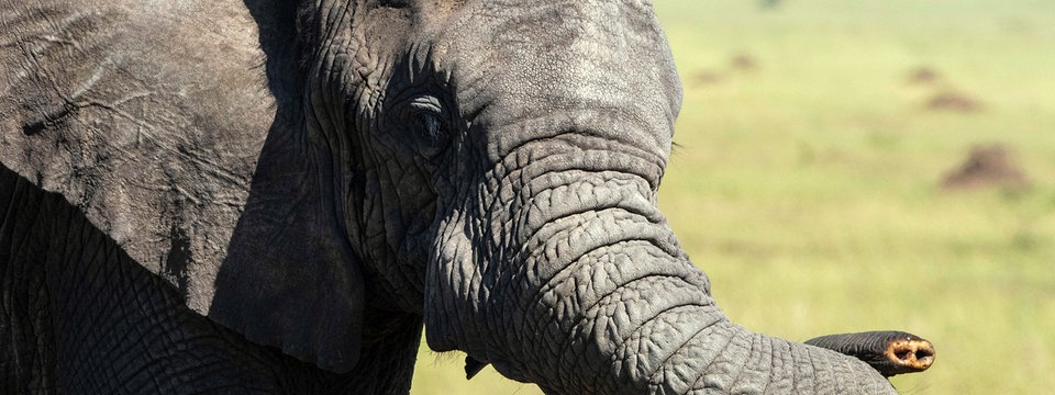
[[[653,153],[669,149],[680,81],[647,3],[486,2],[435,41],[437,61],[456,70],[462,111],[477,114],[477,124],[547,119]],[[497,143],[508,129],[481,129],[492,132],[493,158],[517,146]]]

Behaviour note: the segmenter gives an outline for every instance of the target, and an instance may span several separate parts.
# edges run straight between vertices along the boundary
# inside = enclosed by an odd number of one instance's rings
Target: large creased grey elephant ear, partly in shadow
[[[4,5],[0,162],[191,309],[346,371],[362,273],[299,115],[296,2],[275,3]]]

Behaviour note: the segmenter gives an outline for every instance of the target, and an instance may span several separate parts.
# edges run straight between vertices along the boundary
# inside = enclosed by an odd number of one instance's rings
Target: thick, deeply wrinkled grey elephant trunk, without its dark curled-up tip
[[[433,349],[547,393],[893,393],[858,360],[731,323],[656,207],[663,163],[613,145],[534,139],[452,213]]]

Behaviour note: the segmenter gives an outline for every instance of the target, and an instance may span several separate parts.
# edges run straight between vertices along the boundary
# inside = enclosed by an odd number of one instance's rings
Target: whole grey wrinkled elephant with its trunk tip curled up
[[[408,393],[423,331],[552,394],[933,360],[722,314],[657,208],[647,0],[0,3],[3,393]]]

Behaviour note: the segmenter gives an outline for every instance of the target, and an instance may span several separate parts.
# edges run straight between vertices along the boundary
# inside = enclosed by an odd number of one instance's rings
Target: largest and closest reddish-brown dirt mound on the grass
[[[967,159],[942,179],[948,190],[976,188],[1006,188],[1021,190],[1030,187],[1025,172],[1019,168],[1012,153],[1002,144],[977,145]]]

